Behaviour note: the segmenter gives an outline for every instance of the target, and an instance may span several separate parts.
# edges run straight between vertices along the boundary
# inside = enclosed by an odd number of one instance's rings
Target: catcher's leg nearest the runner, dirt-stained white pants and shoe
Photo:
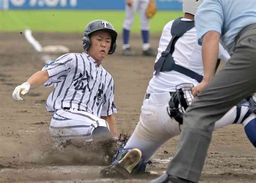
[[[180,133],[179,123],[172,120],[167,113],[171,98],[169,92],[160,96],[151,94],[150,97],[143,102],[140,121],[135,131],[124,148],[118,149],[112,165],[100,172],[102,177],[116,174],[120,176],[121,169],[123,172],[131,172],[133,167],[132,172],[145,172],[148,160],[156,150],[165,141]]]

